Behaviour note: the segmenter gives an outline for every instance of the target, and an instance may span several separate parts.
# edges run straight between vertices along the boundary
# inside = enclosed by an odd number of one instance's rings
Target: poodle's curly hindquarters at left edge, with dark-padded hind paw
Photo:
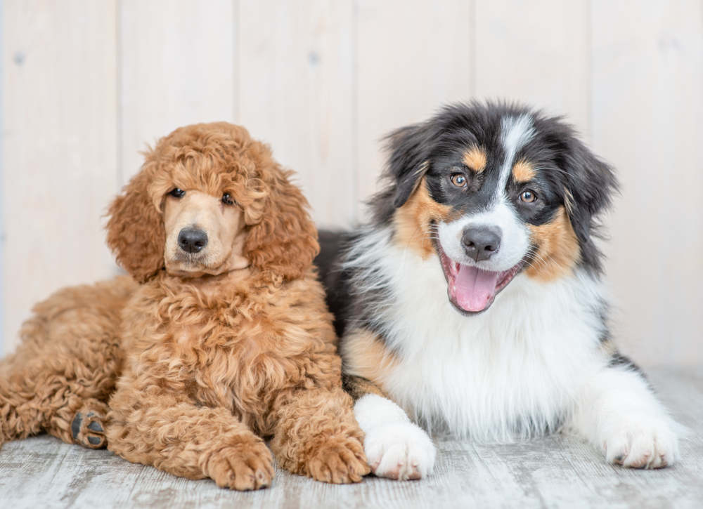
[[[34,307],[18,351],[0,362],[0,444],[46,431],[105,447],[105,402],[123,357],[120,310],[135,286],[117,278],[67,288]]]

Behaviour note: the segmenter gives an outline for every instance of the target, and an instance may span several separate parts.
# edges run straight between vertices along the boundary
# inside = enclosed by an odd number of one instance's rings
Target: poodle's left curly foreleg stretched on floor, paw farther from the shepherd
[[[108,449],[173,475],[219,487],[265,488],[273,458],[264,441],[224,408],[196,406],[150,381],[120,381],[110,399]]]

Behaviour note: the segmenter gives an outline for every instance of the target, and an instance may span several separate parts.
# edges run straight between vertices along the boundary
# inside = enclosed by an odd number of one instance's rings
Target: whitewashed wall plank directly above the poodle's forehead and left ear
[[[236,0],[120,0],[120,185],[177,127],[235,121]]]

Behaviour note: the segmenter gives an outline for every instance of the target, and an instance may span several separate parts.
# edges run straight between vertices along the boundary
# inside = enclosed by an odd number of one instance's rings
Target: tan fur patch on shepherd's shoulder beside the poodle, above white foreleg
[[[344,358],[344,374],[366,378],[381,390],[385,390],[385,374],[399,364],[378,335],[367,329],[357,329],[344,338],[340,353]]]

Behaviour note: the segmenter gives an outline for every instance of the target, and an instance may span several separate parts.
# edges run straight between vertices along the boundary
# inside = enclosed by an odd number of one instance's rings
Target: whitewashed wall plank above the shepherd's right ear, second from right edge
[[[591,2],[476,1],[475,97],[521,100],[591,133]]]

